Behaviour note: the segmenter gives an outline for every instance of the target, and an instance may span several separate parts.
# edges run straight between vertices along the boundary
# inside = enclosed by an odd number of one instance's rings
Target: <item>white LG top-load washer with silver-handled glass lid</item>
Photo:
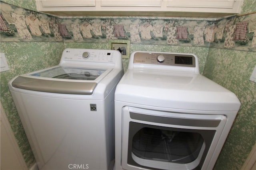
[[[40,170],[112,169],[122,75],[119,51],[65,49],[59,65],[9,82]]]

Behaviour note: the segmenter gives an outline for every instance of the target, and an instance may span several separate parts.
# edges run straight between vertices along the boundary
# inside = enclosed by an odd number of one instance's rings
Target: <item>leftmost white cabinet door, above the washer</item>
[[[44,7],[95,6],[95,0],[40,0]]]

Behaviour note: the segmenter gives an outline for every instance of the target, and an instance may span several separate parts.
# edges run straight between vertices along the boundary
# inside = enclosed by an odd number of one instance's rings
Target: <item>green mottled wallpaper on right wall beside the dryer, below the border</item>
[[[252,52],[209,49],[203,75],[234,92],[241,107],[216,162],[215,170],[239,170],[256,141],[256,66]]]

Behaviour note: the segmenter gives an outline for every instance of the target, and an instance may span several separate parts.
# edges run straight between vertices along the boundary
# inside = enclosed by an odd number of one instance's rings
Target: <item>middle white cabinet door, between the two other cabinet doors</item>
[[[101,0],[100,6],[152,6],[161,7],[162,0]]]

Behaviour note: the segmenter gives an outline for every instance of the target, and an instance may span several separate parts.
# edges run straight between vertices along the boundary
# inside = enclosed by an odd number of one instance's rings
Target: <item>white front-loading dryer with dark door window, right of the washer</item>
[[[115,92],[116,170],[210,170],[240,102],[192,54],[134,52]]]

